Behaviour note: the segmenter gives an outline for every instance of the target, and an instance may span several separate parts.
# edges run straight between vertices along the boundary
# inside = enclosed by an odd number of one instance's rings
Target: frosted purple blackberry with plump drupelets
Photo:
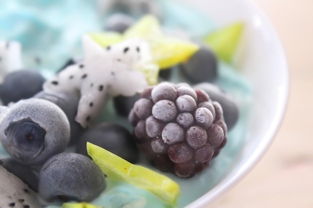
[[[160,171],[182,178],[207,168],[226,144],[219,103],[185,83],[145,89],[128,118],[145,157]]]

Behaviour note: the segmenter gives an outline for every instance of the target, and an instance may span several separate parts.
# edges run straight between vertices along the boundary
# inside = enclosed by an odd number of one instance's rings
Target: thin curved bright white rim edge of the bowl
[[[280,41],[280,38],[275,28],[271,24],[269,18],[262,11],[259,5],[257,5],[255,1],[251,1],[251,0],[242,0],[242,2],[252,7],[257,12],[257,14],[262,19],[262,21],[265,22],[266,26],[269,29],[268,32],[271,33],[272,39],[276,43],[278,53],[281,56],[281,65],[282,65],[282,68],[284,69],[283,77],[285,78],[285,80],[284,80],[284,86],[281,90],[281,99],[279,100],[280,108],[278,108],[277,112],[275,113],[273,120],[272,120],[272,125],[268,129],[267,133],[264,135],[264,138],[262,139],[258,148],[254,151],[251,157],[238,169],[238,171],[234,174],[234,176],[230,178],[229,180],[225,178],[224,180],[221,181],[221,183],[216,185],[213,189],[205,193],[203,196],[201,196],[197,200],[185,206],[185,208],[205,207],[208,204],[212,203],[212,201],[217,200],[217,198],[221,197],[223,194],[229,191],[234,185],[236,185],[240,180],[242,180],[265,155],[270,145],[272,144],[275,136],[277,135],[280,129],[281,123],[283,121],[283,118],[285,116],[285,112],[286,112],[286,108],[288,104],[288,98],[289,98],[290,78],[289,78],[289,68],[287,64],[287,59],[286,59],[286,55],[285,55],[282,43]]]

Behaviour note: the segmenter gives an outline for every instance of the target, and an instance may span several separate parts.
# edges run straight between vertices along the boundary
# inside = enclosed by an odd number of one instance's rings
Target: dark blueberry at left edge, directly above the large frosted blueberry
[[[45,79],[39,72],[19,70],[7,74],[0,85],[0,98],[4,105],[32,97],[42,90]]]

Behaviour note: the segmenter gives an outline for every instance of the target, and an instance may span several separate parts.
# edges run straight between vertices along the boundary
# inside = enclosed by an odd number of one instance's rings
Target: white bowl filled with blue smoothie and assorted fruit
[[[201,207],[242,178],[287,75],[224,1],[0,2],[0,207]]]

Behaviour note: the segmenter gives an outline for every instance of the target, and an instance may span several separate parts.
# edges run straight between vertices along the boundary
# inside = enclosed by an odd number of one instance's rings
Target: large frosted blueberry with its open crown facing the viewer
[[[3,112],[2,112],[3,113]],[[0,124],[0,142],[15,160],[26,165],[42,165],[65,150],[69,123],[52,102],[30,98],[8,108]]]

